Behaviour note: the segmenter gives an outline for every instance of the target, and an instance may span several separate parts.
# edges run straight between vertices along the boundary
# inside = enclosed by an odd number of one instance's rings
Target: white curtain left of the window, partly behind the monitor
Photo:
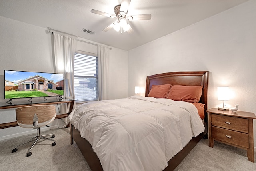
[[[75,53],[75,39],[58,34],[54,32],[54,57],[55,57],[55,70],[57,73],[64,73],[69,75],[68,87],[70,91],[70,96],[74,99],[74,53]],[[66,74],[68,73],[68,74]],[[64,82],[65,84],[65,82]],[[64,92],[66,88],[64,86]],[[68,96],[65,94],[65,96]],[[67,107],[61,105],[61,113],[68,112]],[[63,119],[66,124],[68,124],[68,119]]]

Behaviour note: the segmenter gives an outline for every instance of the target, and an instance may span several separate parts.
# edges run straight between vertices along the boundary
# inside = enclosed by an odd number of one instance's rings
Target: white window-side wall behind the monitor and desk
[[[0,17],[0,101],[4,100],[4,70],[54,72],[52,35],[46,28]],[[95,43],[95,42],[94,42]],[[95,48],[91,48],[95,51]],[[117,48],[110,51],[110,98],[128,96],[128,52]],[[26,99],[28,100],[28,99]],[[13,100],[17,101],[17,100]],[[0,123],[16,121],[15,109],[1,109]],[[51,128],[65,125],[55,120]],[[30,129],[0,129],[0,139],[31,133]]]

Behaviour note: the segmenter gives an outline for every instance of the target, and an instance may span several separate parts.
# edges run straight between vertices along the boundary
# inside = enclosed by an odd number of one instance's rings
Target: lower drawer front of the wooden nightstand
[[[219,127],[212,127],[212,138],[249,148],[249,135]]]

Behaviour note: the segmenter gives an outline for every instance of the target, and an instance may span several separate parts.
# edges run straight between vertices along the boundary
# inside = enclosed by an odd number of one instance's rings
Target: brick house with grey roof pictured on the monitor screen
[[[47,90],[47,89],[56,89],[58,84],[54,83],[53,80],[48,80],[42,76],[32,76],[18,82],[19,91],[26,90]]]

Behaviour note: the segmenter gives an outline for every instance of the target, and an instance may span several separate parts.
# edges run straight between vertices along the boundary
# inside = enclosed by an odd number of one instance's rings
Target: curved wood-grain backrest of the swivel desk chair
[[[38,127],[44,126],[55,119],[56,108],[53,105],[34,105],[16,109],[16,120],[21,127],[33,127],[34,115],[38,117]]]

